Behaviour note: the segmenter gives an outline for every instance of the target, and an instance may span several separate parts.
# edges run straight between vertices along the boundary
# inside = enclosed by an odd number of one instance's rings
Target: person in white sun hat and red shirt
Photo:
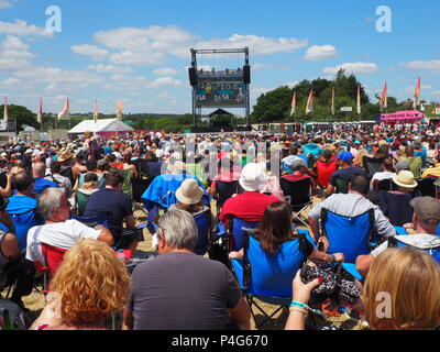
[[[219,219],[227,226],[229,224],[229,217],[235,217],[243,221],[261,221],[266,207],[279,201],[274,196],[260,193],[266,184],[266,176],[255,163],[250,163],[243,167],[239,184],[244,193],[228,199],[221,208]]]

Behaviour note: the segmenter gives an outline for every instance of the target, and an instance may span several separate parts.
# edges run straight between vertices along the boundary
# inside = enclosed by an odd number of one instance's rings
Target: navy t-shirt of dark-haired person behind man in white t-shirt
[[[121,190],[100,189],[94,193],[86,206],[85,217],[111,212],[112,226],[122,227],[124,218],[133,215],[131,198]]]

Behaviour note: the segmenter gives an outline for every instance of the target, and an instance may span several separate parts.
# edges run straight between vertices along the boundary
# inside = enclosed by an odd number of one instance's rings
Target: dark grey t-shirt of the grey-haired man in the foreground
[[[140,264],[129,307],[134,330],[222,330],[242,296],[221,263],[170,252]]]

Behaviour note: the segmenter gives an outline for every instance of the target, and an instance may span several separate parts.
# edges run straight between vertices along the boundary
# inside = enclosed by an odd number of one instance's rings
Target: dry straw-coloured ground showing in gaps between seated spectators
[[[314,199],[314,204],[317,204],[319,201],[320,201],[319,198]],[[212,206],[212,211],[215,212],[216,205],[212,204],[211,206]],[[305,215],[307,215],[307,211],[305,212]],[[136,210],[134,212],[134,216],[136,217],[138,223],[142,223],[142,222],[146,221],[146,216],[141,210]],[[301,226],[298,226],[298,228],[299,229],[308,229],[308,228],[305,228]],[[148,252],[154,251],[152,249],[152,237],[146,229],[144,230],[144,238],[145,238],[145,241],[140,242],[138,245],[138,249],[141,251],[148,251]],[[30,320],[32,320],[32,321],[35,320],[40,316],[40,314],[43,310],[44,305],[45,305],[44,295],[41,292],[38,292],[37,289],[41,289],[41,285],[36,285],[36,288],[34,288],[33,293],[30,296],[23,297],[23,301],[24,301],[26,308],[30,309],[30,312],[28,315],[29,315]],[[6,297],[6,294],[7,294],[7,292],[3,292],[2,296]],[[261,307],[263,307],[263,309],[266,312],[270,312],[270,314],[272,314],[272,311],[274,311],[274,309],[276,308],[276,306],[272,306],[272,305],[258,301],[258,300],[256,300],[256,302]],[[255,319],[258,322],[261,322],[262,319],[264,319],[264,316],[260,312],[260,310],[255,306],[253,307],[253,312],[255,315]],[[262,330],[283,330],[284,326],[286,323],[286,318],[283,318],[283,316],[285,316],[283,314],[286,314],[286,311],[282,310],[278,314],[276,314],[272,319],[270,319],[270,321],[265,324],[265,327]],[[346,321],[348,319],[334,318],[332,320],[336,323],[341,323],[343,321]],[[120,326],[121,326],[121,321],[120,321],[120,319],[118,319],[117,327],[120,327]],[[252,330],[256,329],[255,321],[252,318],[251,318],[251,329]]]

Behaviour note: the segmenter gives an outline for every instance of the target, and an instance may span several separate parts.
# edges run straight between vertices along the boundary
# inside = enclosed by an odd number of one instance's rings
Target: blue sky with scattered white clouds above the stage
[[[62,11],[62,32],[45,31],[46,8]],[[376,31],[376,9],[392,11],[392,32]],[[374,95],[440,101],[438,0],[116,1],[0,0],[0,95],[34,112],[187,113],[190,47],[249,46],[251,105],[282,85],[354,73]],[[199,65],[235,68],[238,55]],[[209,112],[209,110],[207,111]],[[235,111],[243,113],[242,110]]]

